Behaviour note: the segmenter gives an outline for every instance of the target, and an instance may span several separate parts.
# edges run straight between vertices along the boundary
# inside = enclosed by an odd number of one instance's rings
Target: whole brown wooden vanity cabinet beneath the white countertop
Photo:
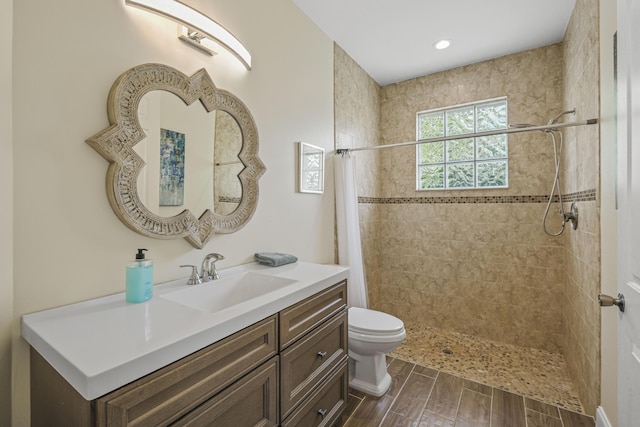
[[[346,282],[87,401],[31,349],[33,426],[330,426],[348,394]]]

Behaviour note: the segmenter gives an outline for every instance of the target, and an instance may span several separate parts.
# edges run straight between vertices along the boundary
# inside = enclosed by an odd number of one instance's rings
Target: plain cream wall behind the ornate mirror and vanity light
[[[136,248],[149,249],[156,282],[185,277],[178,266],[197,264],[208,252],[226,256],[221,268],[252,261],[264,250],[334,261],[333,233],[327,232],[334,228],[331,163],[323,195],[295,191],[296,141],[327,152],[334,147],[332,41],[289,0],[188,3],[248,47],[252,71],[225,52],[202,55],[176,38],[175,24],[122,1],[14,4],[14,257],[21,272],[13,307],[14,426],[29,424],[28,346],[17,335],[20,316],[122,292],[124,267]],[[205,67],[216,86],[242,99],[258,126],[267,167],[258,208],[247,226],[214,236],[203,250],[184,240],[148,239],[120,223],[104,190],[107,162],[84,142],[108,125],[106,99],[116,77],[146,62],[187,74]],[[1,280],[4,289],[7,279]],[[4,316],[11,306],[0,301]]]

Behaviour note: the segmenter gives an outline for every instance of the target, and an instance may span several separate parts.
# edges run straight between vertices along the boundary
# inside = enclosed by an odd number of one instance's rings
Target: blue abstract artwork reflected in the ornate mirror
[[[160,206],[184,204],[184,134],[160,129]]]

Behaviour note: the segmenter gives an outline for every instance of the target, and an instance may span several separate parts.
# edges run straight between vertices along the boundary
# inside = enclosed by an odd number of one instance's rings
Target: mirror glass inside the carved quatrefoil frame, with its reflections
[[[228,215],[238,207],[242,133],[229,113],[151,91],[140,101],[138,119],[146,138],[133,149],[146,162],[137,188],[147,209],[170,217],[185,209]]]

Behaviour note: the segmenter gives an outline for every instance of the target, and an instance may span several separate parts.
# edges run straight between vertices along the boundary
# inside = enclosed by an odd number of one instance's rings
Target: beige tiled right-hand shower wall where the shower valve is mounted
[[[599,2],[576,2],[564,39],[565,109],[577,119],[600,115]],[[600,402],[600,130],[582,126],[564,132],[562,183],[565,193],[596,190],[578,202],[579,227],[564,234],[563,353],[585,411]],[[565,209],[569,204],[565,205]]]

